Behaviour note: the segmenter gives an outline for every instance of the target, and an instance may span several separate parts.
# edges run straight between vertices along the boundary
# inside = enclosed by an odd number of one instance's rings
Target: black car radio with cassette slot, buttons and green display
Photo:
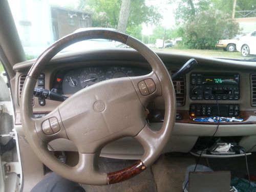
[[[190,75],[191,99],[239,99],[239,74],[193,73]]]

